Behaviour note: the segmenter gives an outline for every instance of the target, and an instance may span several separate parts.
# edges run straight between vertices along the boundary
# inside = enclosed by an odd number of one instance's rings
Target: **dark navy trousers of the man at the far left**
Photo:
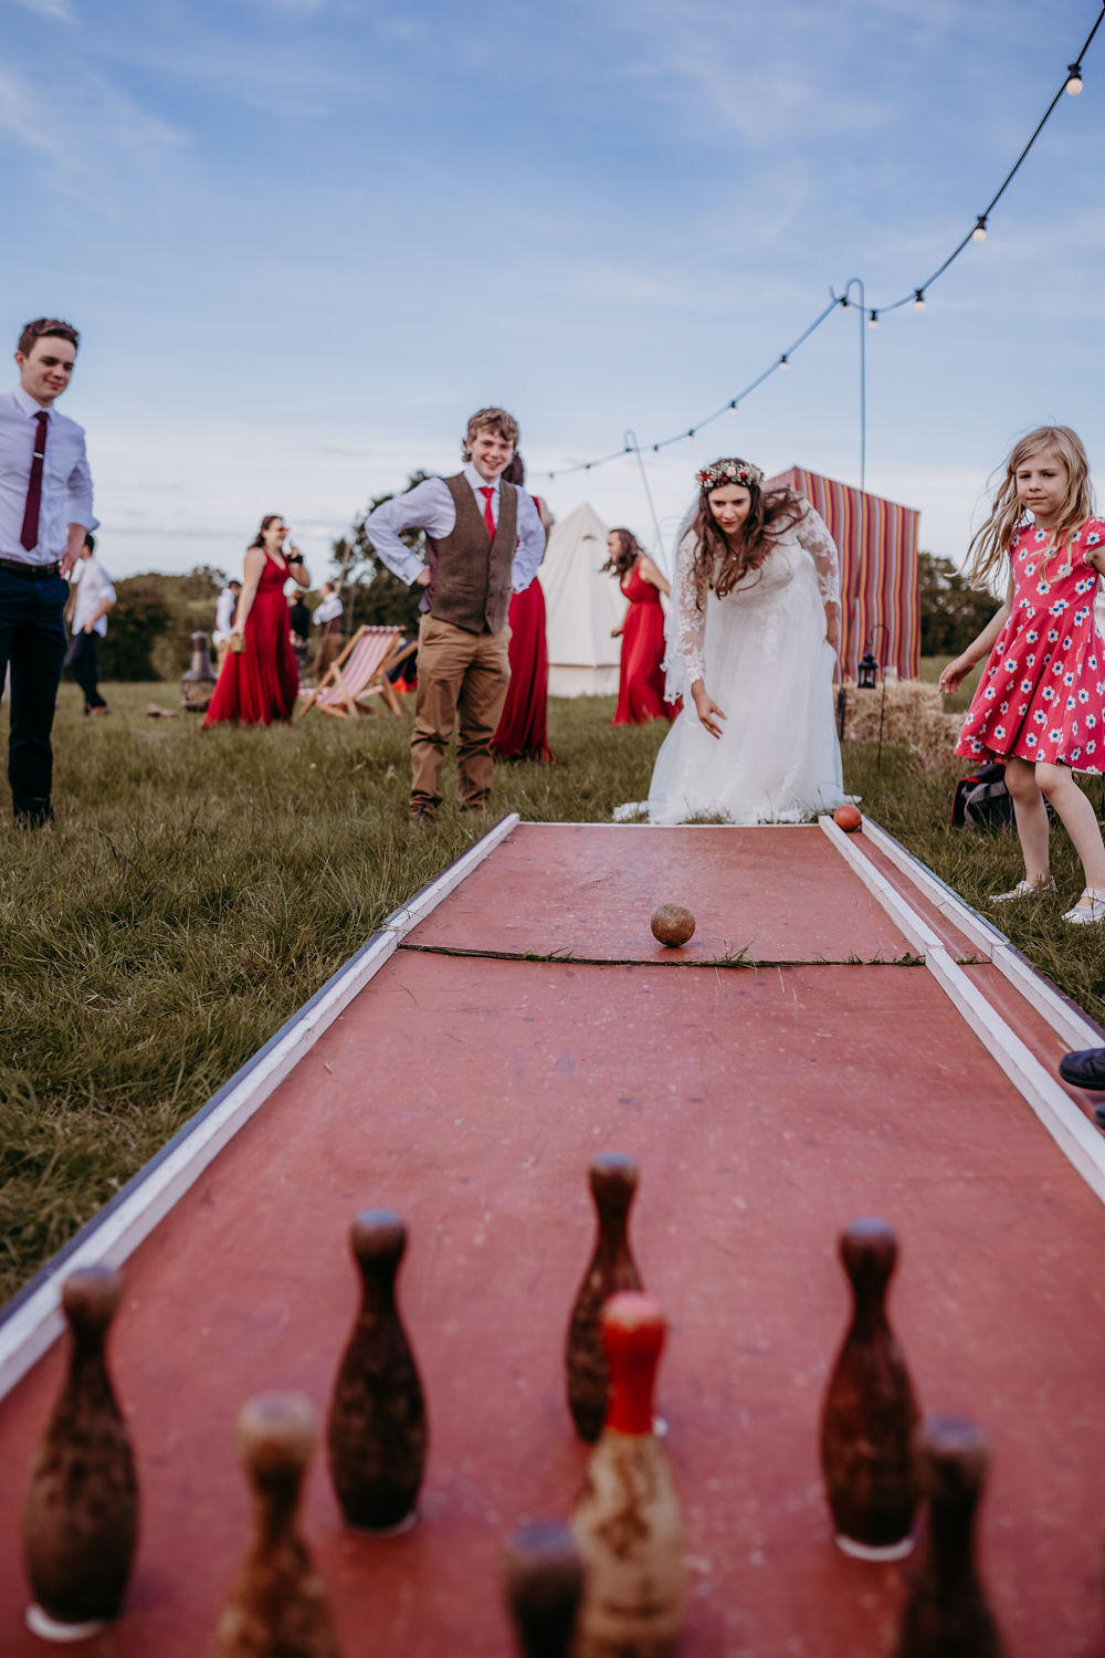
[[[0,569],[0,683],[12,665],[8,783],[22,824],[48,822],[53,751],[50,728],[65,662],[65,600],[60,575],[13,575]]]

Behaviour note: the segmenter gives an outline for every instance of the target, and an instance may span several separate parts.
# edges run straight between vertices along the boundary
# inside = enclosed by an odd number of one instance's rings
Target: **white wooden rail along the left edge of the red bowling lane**
[[[78,1267],[119,1267],[149,1237],[159,1220],[200,1177],[204,1169],[265,1104],[288,1073],[313,1048],[350,1001],[391,960],[399,942],[441,904],[519,826],[509,812],[482,839],[424,887],[411,904],[394,910],[381,932],[363,945],[298,1013],[277,1031],[253,1059],[232,1078],[222,1094],[202,1106],[192,1124],[141,1171],[121,1200],[109,1204],[78,1234],[76,1247],[50,1262],[38,1285],[0,1321],[0,1399],[46,1351],[65,1328],[61,1283]]]

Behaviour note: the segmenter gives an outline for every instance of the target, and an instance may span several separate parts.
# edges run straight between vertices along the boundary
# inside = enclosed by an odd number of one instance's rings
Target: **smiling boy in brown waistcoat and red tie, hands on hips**
[[[364,531],[399,580],[426,589],[417,635],[417,703],[411,736],[411,817],[432,821],[441,771],[457,728],[461,811],[482,812],[492,783],[490,739],[510,683],[507,608],[537,575],[545,529],[524,489],[500,484],[519,424],[477,410],[462,446],[464,471],[427,478],[368,517]],[[426,531],[426,559],[399,541]]]

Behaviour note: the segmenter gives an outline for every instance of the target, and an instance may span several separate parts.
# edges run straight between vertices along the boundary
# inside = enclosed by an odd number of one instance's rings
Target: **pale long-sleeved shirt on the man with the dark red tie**
[[[38,426],[46,414],[46,458],[41,473],[38,544],[20,541]],[[0,559],[53,564],[65,554],[70,524],[98,529],[93,517],[93,479],[84,454],[84,428],[55,408],[43,410],[22,386],[0,393]]]

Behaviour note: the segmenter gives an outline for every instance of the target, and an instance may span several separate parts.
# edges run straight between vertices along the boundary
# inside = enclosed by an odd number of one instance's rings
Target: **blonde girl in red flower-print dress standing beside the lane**
[[[1105,920],[1102,831],[1074,779],[1075,771],[1105,771],[1105,640],[1093,620],[1105,519],[1093,517],[1088,461],[1069,426],[1039,426],[1014,448],[971,550],[976,587],[1009,557],[1006,602],[944,668],[939,688],[954,691],[989,653],[956,753],[1006,761],[1024,880],[994,900],[1055,892],[1047,797],[1085,870],[1085,890],[1064,920]]]

